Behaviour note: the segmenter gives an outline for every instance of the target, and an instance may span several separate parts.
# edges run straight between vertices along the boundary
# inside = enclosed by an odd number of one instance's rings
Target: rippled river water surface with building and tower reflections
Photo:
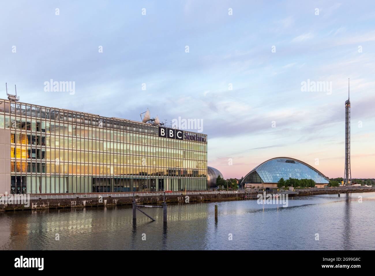
[[[168,223],[162,208],[145,209],[155,222],[131,206],[1,212],[0,249],[375,249],[375,193],[218,202],[217,220],[214,204],[170,205]]]

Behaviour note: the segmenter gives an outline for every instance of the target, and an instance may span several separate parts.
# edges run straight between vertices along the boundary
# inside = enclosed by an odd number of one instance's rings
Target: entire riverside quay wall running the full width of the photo
[[[229,201],[243,199],[257,199],[258,193],[267,194],[288,194],[288,196],[315,196],[324,194],[340,193],[365,193],[375,192],[375,187],[327,187],[327,188],[309,188],[296,189],[295,191],[233,191],[233,192],[166,192],[165,201],[167,203],[187,203],[187,202],[210,202],[210,201]],[[1,196],[1,195],[0,195]],[[0,198],[0,211],[17,210],[37,210],[52,208],[75,208],[75,207],[94,207],[111,205],[130,205],[133,201],[133,193],[85,193],[85,194],[39,194],[30,195],[25,205],[15,203],[16,200],[10,200],[13,195],[2,196]],[[138,204],[162,204],[163,193],[135,193],[134,198]],[[5,204],[3,202],[6,202]]]

